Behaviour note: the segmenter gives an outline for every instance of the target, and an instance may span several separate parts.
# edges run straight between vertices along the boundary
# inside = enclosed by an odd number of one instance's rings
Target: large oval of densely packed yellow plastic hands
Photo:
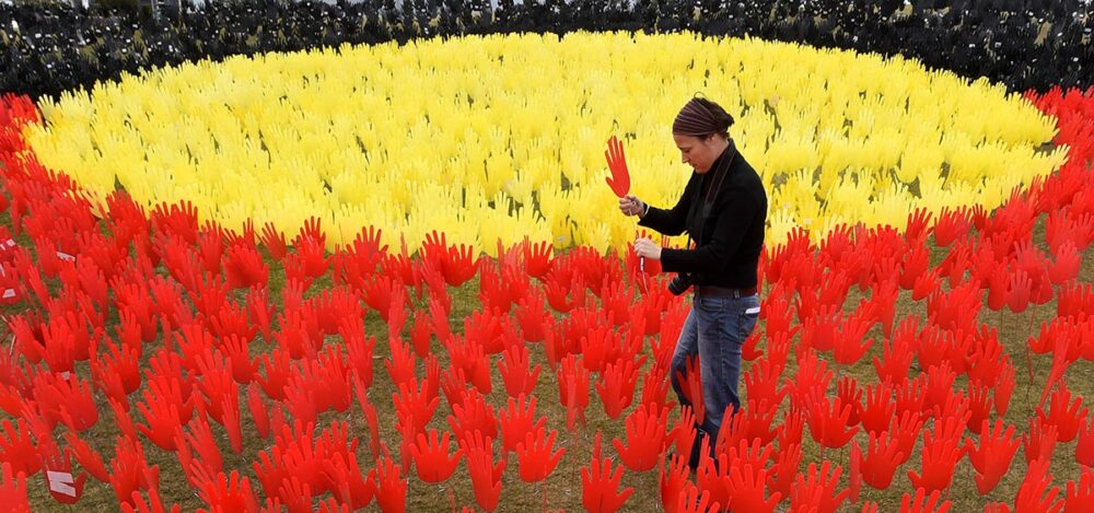
[[[665,51],[673,48],[673,51]],[[626,62],[626,65],[622,65]],[[331,245],[362,225],[411,246],[431,230],[488,253],[531,237],[602,250],[633,237],[610,215],[603,141],[625,135],[633,190],[672,206],[687,179],[667,135],[702,90],[768,186],[769,241],[908,211],[993,208],[1050,173],[1055,124],[1014,94],[903,58],[695,35],[467,37],[344,46],[127,75],[42,105],[32,147],[94,195],[189,200],[206,219]]]

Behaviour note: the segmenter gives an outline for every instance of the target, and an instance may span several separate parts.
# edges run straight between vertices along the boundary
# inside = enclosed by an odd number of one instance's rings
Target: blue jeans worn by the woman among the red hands
[[[695,296],[691,312],[684,322],[676,351],[673,353],[672,383],[680,406],[690,406],[684,397],[686,382],[676,377],[679,372],[687,378],[687,360],[699,354],[702,399],[706,418],[701,435],[711,438],[711,448],[722,424],[722,416],[730,406],[736,412],[741,407],[737,383],[741,381],[741,347],[756,328],[759,318],[759,296],[741,298]],[[698,442],[698,440],[697,440]]]

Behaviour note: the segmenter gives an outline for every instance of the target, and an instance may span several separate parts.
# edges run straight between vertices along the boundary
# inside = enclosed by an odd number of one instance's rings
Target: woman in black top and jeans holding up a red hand
[[[685,164],[695,171],[672,209],[651,207],[635,196],[619,199],[619,209],[638,215],[638,224],[666,235],[688,233],[686,249],[661,247],[649,238],[635,242],[640,257],[661,260],[665,271],[678,272],[670,285],[683,293],[694,285],[688,313],[672,361],[673,389],[680,405],[687,361],[698,354],[706,417],[698,427],[689,464],[698,464],[699,446],[710,436],[713,448],[725,410],[741,406],[741,346],[756,327],[759,298],[757,264],[767,221],[764,183],[741,155],[729,128],[733,117],[703,97],[694,97],[673,121],[673,139]],[[686,380],[686,377],[685,377]]]

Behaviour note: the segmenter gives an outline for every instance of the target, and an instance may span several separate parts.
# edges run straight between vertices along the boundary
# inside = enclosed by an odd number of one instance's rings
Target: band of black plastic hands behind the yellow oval
[[[153,20],[137,9],[0,5],[0,91],[32,97],[200,58],[438,35],[690,30],[903,54],[1012,90],[1094,83],[1090,0],[245,0]]]

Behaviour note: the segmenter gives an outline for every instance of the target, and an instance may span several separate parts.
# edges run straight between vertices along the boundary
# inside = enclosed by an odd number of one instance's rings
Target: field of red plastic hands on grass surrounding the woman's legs
[[[1094,418],[1067,380],[1094,361],[1094,290],[1079,280],[1094,241],[1094,92],[1031,100],[1058,117],[1070,160],[996,211],[913,212],[904,232],[852,226],[818,244],[799,232],[765,250],[746,404],[717,464],[691,475],[665,457],[688,453],[705,416],[676,408],[667,384],[687,304],[656,266],[547,243],[477,257],[443,234],[409,257],[368,230],[327,254],[318,223],[290,240],[229,233],[121,194],[96,212],[63,175],[14,156],[38,114],[4,97],[0,504],[110,490],[127,512],[494,511],[507,489],[538,483],[547,509],[555,470],[580,467],[594,512],[928,512],[952,508],[967,458],[980,494],[1015,483],[985,511],[1094,511]],[[476,282],[468,306],[456,293]],[[898,315],[909,293],[926,316]],[[980,322],[985,307],[1049,302],[1027,340]],[[1034,361],[1050,362],[1046,378]],[[1008,422],[1022,382],[1038,406]],[[702,405],[696,380],[687,389]],[[1060,454],[1081,471],[1054,476]],[[625,488],[633,475],[660,486]],[[430,487],[468,478],[435,503]],[[891,487],[893,503],[864,499]]]

